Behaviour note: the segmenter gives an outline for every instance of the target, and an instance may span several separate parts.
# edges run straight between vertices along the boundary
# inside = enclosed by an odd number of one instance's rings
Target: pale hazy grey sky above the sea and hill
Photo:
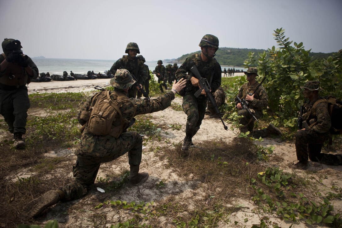
[[[267,49],[272,33],[313,52],[342,49],[341,0],[0,0],[0,39],[21,41],[30,57],[116,60],[136,42],[147,61],[220,47]]]

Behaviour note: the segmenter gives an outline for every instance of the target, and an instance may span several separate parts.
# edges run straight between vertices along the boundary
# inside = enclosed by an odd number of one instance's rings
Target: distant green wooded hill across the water
[[[267,50],[263,50],[263,49],[249,49],[249,48],[220,48],[217,52],[216,52],[216,60],[221,64],[221,65],[225,65],[225,66],[243,66],[244,65],[244,61],[248,58],[248,52],[254,52],[256,55],[258,53],[262,53],[264,51]],[[177,58],[177,59],[172,59],[172,60],[163,60],[163,62],[165,61],[166,63],[183,63],[185,61],[185,59],[192,54],[195,53],[200,53],[201,51],[197,51],[197,52],[192,52],[189,54],[184,54],[181,57]],[[330,55],[332,55],[333,53],[315,53],[315,52],[311,52],[310,56],[313,56],[313,60],[318,59],[318,58],[324,58],[327,59]]]

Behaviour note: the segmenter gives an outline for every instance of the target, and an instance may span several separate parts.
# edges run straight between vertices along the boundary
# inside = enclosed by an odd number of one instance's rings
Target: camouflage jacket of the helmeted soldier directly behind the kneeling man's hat
[[[144,62],[140,58],[131,60],[128,55],[123,55],[122,58],[118,59],[113,66],[111,66],[110,73],[115,75],[117,69],[127,69],[141,85],[144,84],[147,78]]]

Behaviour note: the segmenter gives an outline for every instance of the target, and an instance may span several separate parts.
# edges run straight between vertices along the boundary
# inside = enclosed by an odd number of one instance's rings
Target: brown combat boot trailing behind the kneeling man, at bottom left
[[[24,207],[24,216],[28,218],[33,218],[40,213],[42,213],[46,208],[49,206],[55,205],[64,198],[64,192],[62,190],[51,190],[45,192],[40,197],[31,200],[26,206]]]

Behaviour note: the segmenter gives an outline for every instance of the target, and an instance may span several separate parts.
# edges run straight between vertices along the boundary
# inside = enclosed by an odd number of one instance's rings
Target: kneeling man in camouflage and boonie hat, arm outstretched
[[[75,151],[77,155],[76,164],[73,166],[75,181],[30,201],[24,208],[24,216],[37,216],[45,208],[58,201],[71,201],[87,194],[94,185],[101,163],[113,161],[127,152],[130,165],[129,184],[140,185],[148,179],[148,173],[139,173],[142,136],[136,131],[126,131],[128,124],[135,115],[157,112],[170,106],[175,93],[185,87],[185,81],[173,85],[172,90],[158,98],[150,100],[130,98],[128,100],[126,96],[128,89],[134,83],[135,81],[126,69],[117,70],[115,77],[110,79],[110,84],[114,87],[114,91],[110,92],[110,98],[122,100],[119,110],[124,121],[121,122],[120,118],[115,118],[112,124],[112,129],[117,126],[123,129],[121,134],[116,135],[117,138],[112,134],[113,131],[109,135],[94,135],[89,132],[87,119],[90,118],[90,109],[96,102],[96,94],[83,105],[78,114],[78,121],[83,126],[83,132]]]

